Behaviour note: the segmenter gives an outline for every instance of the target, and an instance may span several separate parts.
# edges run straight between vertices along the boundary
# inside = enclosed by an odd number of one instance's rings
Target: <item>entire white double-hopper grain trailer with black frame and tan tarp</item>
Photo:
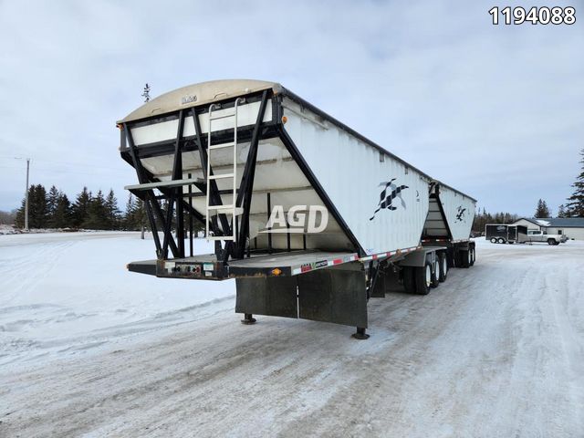
[[[254,313],[324,320],[363,338],[367,300],[384,294],[386,277],[427,293],[447,265],[474,263],[473,198],[279,84],[196,84],[118,126],[139,178],[128,189],[164,236],[153,234],[157,259],[130,270],[235,277],[245,322]],[[195,223],[213,255],[193,255]]]

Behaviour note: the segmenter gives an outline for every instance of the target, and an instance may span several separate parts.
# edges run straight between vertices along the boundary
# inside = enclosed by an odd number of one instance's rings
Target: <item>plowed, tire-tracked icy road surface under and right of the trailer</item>
[[[352,328],[222,309],[0,369],[0,436],[584,435],[584,245],[480,243]]]

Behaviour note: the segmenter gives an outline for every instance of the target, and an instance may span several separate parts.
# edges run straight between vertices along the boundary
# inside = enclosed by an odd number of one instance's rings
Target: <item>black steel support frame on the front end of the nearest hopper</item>
[[[266,113],[267,101],[268,99],[273,99],[274,104],[272,105],[272,121],[263,122]],[[241,98],[235,98],[241,99]],[[235,104],[235,99],[225,99],[224,101],[219,101],[216,105],[221,108],[228,108],[230,105]],[[237,197],[235,200],[235,206],[243,208],[243,214],[236,218],[235,224],[231,224],[227,218],[226,214],[216,214],[210,219],[209,228],[214,235],[232,235],[235,226],[236,240],[225,241],[224,247],[221,245],[220,241],[215,242],[215,255],[217,260],[223,261],[225,264],[232,258],[244,258],[245,255],[249,256],[251,252],[251,242],[249,239],[249,214],[254,190],[254,177],[255,177],[255,165],[257,159],[257,149],[259,141],[264,138],[279,137],[281,141],[287,147],[292,158],[297,162],[301,171],[308,178],[309,183],[312,185],[314,190],[317,192],[318,196],[322,199],[323,203],[327,207],[330,214],[333,215],[335,220],[338,222],[340,227],[343,229],[345,234],[348,236],[349,241],[354,246],[355,252],[360,255],[365,255],[365,251],[360,246],[359,241],[352,234],[349,226],[345,223],[342,216],[335,205],[331,202],[328,194],[325,193],[324,189],[318,183],[315,174],[310,170],[308,163],[304,160],[300,152],[298,151],[294,141],[287,134],[284,129],[282,122],[282,95],[275,95],[271,90],[266,89],[255,93],[255,95],[245,96],[247,101],[257,101],[259,100],[260,109],[258,111],[257,119],[255,120],[255,125],[253,127],[243,127],[237,130],[238,142],[250,141],[250,149],[248,152],[247,160],[245,161],[245,168],[241,183],[237,190]],[[130,162],[137,172],[138,180],[141,184],[143,183],[156,183],[159,180],[154,177],[151,172],[144,169],[141,159],[148,157],[155,157],[160,155],[169,154],[169,146],[173,146],[173,163],[172,163],[172,180],[181,180],[183,178],[183,152],[184,151],[198,151],[199,157],[203,168],[203,182],[194,183],[194,185],[201,191],[206,192],[206,185],[204,182],[209,182],[211,185],[209,187],[210,192],[210,203],[213,205],[221,205],[222,198],[221,195],[224,191],[219,191],[217,184],[214,180],[208,180],[208,175],[206,175],[206,164],[207,164],[207,151],[204,147],[204,141],[209,135],[203,134],[199,122],[198,116],[204,112],[208,111],[207,108],[202,107],[192,107],[185,110],[178,111],[178,130],[176,138],[172,143],[170,141],[159,142],[151,145],[136,147],[131,135],[131,128],[143,126],[148,124],[148,120],[140,120],[134,123],[122,123],[120,129],[122,130],[121,135],[121,155],[124,160]],[[183,137],[184,122],[187,117],[193,118],[195,135],[191,137]],[[155,122],[156,118],[151,118],[152,122]],[[176,120],[176,116],[164,116],[164,120]],[[158,119],[160,120],[160,118]],[[224,131],[214,131],[213,143],[224,142],[225,139],[233,138],[233,129]],[[208,141],[208,139],[206,139]],[[210,174],[213,174],[213,169],[211,168]],[[146,206],[146,213],[148,215],[149,223],[151,224],[154,244],[156,245],[156,254],[159,259],[168,259],[169,250],[172,256],[175,258],[182,258],[185,256],[184,248],[184,212],[188,211],[189,216],[189,249],[190,254],[193,255],[193,218],[204,224],[205,218],[202,214],[199,214],[193,208],[193,196],[191,191],[191,185],[189,184],[189,193],[183,193],[183,187],[171,187],[171,188],[157,188],[162,193],[162,196],[157,196],[153,192],[153,189],[149,190],[132,190],[136,196],[140,197]],[[231,193],[231,192],[229,192]],[[269,203],[269,193],[268,203]],[[163,211],[162,201],[167,200],[166,211]],[[159,203],[161,202],[161,203]],[[175,214],[176,213],[176,214]],[[269,214],[269,209],[268,209]],[[176,241],[172,237],[172,222],[175,218],[176,225]],[[163,239],[160,241],[158,235],[157,220],[162,224]],[[271,242],[269,242],[271,235],[268,234],[268,252],[272,252]],[[290,236],[287,236],[287,251],[290,251]],[[303,245],[306,248],[306,236],[303,240]]]

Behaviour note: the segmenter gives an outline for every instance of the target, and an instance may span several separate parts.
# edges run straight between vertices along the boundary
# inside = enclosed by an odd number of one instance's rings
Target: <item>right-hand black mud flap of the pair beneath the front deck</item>
[[[367,328],[363,271],[322,269],[297,276],[299,318]]]

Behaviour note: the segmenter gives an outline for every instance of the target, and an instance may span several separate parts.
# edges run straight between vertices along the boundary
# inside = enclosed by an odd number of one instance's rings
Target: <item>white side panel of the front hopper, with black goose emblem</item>
[[[367,255],[420,244],[429,180],[284,99],[284,128]]]

